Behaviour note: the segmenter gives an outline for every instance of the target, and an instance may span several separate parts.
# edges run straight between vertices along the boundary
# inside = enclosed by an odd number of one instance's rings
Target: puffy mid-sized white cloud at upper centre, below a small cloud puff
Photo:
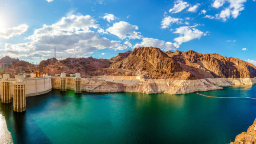
[[[115,22],[113,26],[107,29],[113,35],[118,36],[121,39],[130,38],[130,39],[141,39],[141,33],[136,32],[138,30],[138,26],[134,26],[129,24],[128,22],[120,21]]]

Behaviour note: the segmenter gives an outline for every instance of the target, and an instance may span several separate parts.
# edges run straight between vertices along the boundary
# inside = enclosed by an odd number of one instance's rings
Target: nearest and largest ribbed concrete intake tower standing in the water
[[[13,111],[26,111],[25,83],[23,75],[16,75],[13,83]]]

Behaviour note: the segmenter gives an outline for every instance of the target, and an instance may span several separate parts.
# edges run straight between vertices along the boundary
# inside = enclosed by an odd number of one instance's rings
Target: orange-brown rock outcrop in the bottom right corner
[[[256,144],[256,119],[246,132],[238,134],[230,144]]]

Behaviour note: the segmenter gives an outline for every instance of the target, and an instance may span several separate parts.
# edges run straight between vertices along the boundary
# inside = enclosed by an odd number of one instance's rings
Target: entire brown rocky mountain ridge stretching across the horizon
[[[14,64],[17,60],[4,57],[0,62]],[[238,58],[200,54],[192,50],[163,52],[154,47],[134,48],[110,59],[89,57],[58,61],[51,58],[41,61],[36,70],[50,75],[79,72],[83,75],[139,75],[144,78],[179,80],[256,77],[256,66]]]

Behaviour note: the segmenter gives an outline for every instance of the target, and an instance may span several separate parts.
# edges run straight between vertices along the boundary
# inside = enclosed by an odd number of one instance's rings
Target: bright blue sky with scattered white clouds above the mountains
[[[0,0],[0,58],[112,58],[142,46],[256,65],[255,0]]]

